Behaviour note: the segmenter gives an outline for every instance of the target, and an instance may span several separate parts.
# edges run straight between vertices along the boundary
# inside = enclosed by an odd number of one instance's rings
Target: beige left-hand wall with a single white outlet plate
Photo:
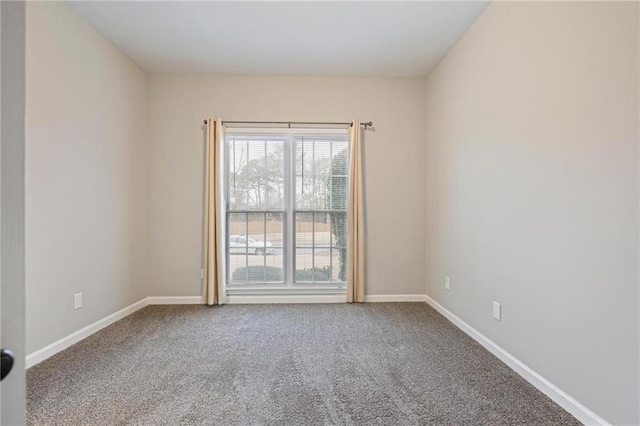
[[[62,2],[27,4],[26,66],[31,353],[147,296],[147,77]]]

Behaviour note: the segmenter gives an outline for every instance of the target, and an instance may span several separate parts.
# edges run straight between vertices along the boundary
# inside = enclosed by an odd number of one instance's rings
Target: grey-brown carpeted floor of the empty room
[[[27,400],[31,425],[579,424],[424,303],[149,306]]]

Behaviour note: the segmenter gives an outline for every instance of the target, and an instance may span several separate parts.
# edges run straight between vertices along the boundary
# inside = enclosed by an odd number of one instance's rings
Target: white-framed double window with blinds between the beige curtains
[[[227,129],[227,289],[344,291],[346,129]]]

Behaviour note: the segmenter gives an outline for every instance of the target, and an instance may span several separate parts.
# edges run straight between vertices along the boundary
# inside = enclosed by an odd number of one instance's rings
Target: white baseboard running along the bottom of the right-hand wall
[[[522,376],[526,381],[538,388],[542,393],[551,398],[556,404],[574,415],[579,421],[585,425],[610,425],[602,417],[578,402],[575,398],[564,392],[562,389],[551,383],[549,380],[536,373],[534,370],[525,365],[522,361],[502,349],[495,342],[475,328],[458,318],[447,308],[425,295],[426,302],[436,311],[440,312],[445,318],[456,325],[460,330],[464,331],[476,342],[480,343],[489,352],[498,357],[502,362],[507,364],[512,370]]]

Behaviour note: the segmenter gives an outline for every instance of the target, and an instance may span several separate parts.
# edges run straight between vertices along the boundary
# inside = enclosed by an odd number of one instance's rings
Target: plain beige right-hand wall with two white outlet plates
[[[613,424],[640,421],[638,113],[637,3],[493,3],[427,80],[428,295]]]

